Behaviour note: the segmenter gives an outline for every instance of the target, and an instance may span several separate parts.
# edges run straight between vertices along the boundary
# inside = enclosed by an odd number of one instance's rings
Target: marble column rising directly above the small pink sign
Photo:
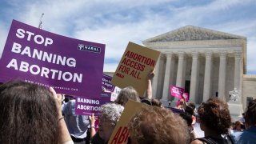
[[[184,52],[178,53],[178,71],[177,71],[177,79],[176,79],[176,86],[182,86],[182,76],[183,76],[183,69],[184,69]]]

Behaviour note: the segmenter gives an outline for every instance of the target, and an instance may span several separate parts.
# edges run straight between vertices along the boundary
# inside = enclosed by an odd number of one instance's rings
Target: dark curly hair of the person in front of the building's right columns
[[[231,126],[230,111],[226,102],[218,98],[210,98],[198,108],[201,122],[217,134],[228,134]]]

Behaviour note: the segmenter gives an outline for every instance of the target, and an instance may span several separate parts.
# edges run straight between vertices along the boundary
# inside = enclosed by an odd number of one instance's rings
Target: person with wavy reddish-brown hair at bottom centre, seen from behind
[[[128,123],[132,144],[186,144],[190,135],[186,122],[170,110],[158,106],[142,106]]]

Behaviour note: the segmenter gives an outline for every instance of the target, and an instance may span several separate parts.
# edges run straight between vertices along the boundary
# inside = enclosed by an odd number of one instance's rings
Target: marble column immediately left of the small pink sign
[[[171,66],[172,54],[166,54],[166,72],[162,90],[162,100],[167,101],[170,94],[170,66]]]

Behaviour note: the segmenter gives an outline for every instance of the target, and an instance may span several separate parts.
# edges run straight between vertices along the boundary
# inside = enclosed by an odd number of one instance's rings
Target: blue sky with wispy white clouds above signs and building
[[[186,25],[247,38],[247,74],[256,74],[256,0],[1,0],[0,54],[12,19],[55,34],[106,44],[104,71],[114,71],[128,42]]]

